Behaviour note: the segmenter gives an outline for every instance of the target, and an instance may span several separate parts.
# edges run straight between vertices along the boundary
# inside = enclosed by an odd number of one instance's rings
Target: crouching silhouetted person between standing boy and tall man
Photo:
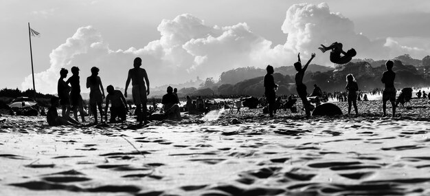
[[[119,90],[113,89],[112,85],[106,87],[108,95],[106,96],[106,105],[104,106],[104,119],[107,121],[107,113],[109,102],[111,103],[111,119],[109,122],[116,122],[116,118],[119,117],[121,122],[126,120],[126,113],[128,112],[126,98],[122,95]]]

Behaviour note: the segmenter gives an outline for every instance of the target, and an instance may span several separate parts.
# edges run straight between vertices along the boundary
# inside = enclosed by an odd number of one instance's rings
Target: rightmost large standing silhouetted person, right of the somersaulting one
[[[387,100],[391,102],[393,109],[393,117],[396,115],[396,88],[394,87],[394,79],[396,73],[393,72],[394,62],[389,60],[385,63],[387,71],[382,74],[381,82],[385,84],[385,89],[382,94],[382,110],[383,116],[387,116],[385,113],[387,109]]]

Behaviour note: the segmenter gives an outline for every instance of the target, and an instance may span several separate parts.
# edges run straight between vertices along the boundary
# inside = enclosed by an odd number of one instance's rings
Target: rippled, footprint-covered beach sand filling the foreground
[[[396,118],[381,110],[359,102],[359,116],[306,119],[244,108],[147,127],[3,115],[0,195],[430,195],[426,100]]]

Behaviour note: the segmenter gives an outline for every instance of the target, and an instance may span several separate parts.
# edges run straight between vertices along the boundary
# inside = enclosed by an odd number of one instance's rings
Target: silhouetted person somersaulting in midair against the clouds
[[[335,42],[328,47],[321,44],[321,47],[318,47],[318,49],[321,50],[321,52],[323,53],[327,50],[332,50],[332,52],[330,52],[330,61],[332,63],[345,64],[350,62],[352,60],[352,57],[357,55],[357,52],[354,50],[354,48],[351,48],[350,50],[348,50],[348,52],[345,52],[343,51],[342,47],[342,43]],[[341,56],[341,54],[343,54],[343,56]]]

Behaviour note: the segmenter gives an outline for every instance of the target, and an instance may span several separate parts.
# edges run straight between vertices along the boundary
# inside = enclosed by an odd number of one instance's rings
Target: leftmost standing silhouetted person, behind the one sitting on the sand
[[[67,117],[70,115],[70,99],[69,99],[69,92],[70,87],[66,84],[64,79],[67,77],[67,74],[69,71],[65,68],[61,68],[60,70],[60,79],[58,79],[58,86],[57,86],[57,94],[60,98],[60,105],[61,105],[61,116]]]

